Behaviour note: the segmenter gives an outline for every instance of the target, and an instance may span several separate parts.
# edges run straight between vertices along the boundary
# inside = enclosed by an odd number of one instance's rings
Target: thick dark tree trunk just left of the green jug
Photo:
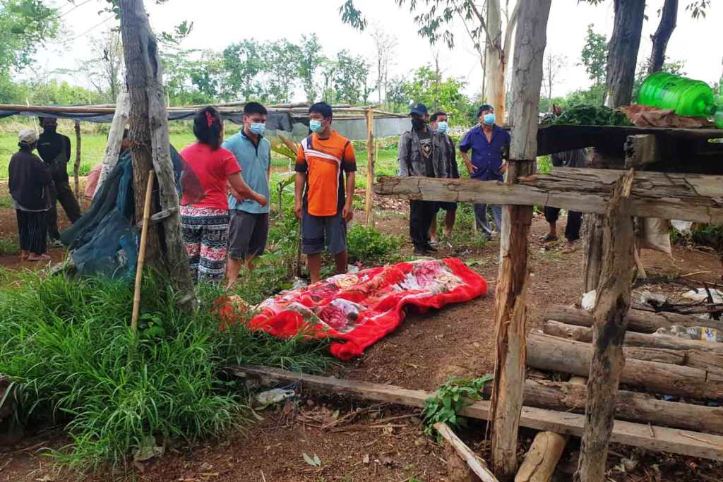
[[[608,46],[605,82],[608,107],[630,103],[645,18],[645,0],[615,0],[614,5],[615,25]]]

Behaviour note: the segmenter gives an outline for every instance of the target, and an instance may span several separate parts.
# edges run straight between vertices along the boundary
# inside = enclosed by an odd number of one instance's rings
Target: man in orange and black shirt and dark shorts
[[[312,134],[301,141],[296,155],[295,210],[301,220],[301,252],[307,255],[312,283],[320,279],[325,247],[334,257],[337,274],[346,272],[346,223],[354,216],[354,148],[331,128],[331,120],[328,103],[309,107]]]

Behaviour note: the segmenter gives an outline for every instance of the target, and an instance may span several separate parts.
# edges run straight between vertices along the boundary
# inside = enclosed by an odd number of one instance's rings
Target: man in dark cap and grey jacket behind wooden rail
[[[442,134],[432,130],[427,106],[414,103],[409,111],[411,130],[399,139],[399,176],[448,177],[447,149]],[[429,244],[429,227],[437,214],[437,203],[409,202],[409,237],[415,254],[429,254],[437,249]]]

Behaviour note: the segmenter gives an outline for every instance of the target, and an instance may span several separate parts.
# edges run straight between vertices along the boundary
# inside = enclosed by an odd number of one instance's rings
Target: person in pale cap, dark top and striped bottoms
[[[20,237],[20,259],[46,261],[48,251],[48,210],[53,182],[50,171],[33,150],[38,134],[25,129],[18,135],[20,150],[10,159],[8,167],[9,189],[17,215]]]

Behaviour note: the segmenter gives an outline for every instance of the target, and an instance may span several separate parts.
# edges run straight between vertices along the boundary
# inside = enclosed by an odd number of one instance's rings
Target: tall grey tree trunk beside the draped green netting
[[[148,173],[158,177],[161,210],[172,212],[163,223],[149,226],[147,262],[168,274],[181,295],[181,305],[194,305],[194,289],[188,257],[181,236],[179,197],[176,193],[168,139],[168,113],[158,43],[150,29],[142,0],[121,0],[121,34],[126,61],[126,84],[130,97],[130,139],[133,155],[135,212],[143,212]],[[158,201],[154,202],[155,205]],[[162,229],[161,229],[162,228]]]

